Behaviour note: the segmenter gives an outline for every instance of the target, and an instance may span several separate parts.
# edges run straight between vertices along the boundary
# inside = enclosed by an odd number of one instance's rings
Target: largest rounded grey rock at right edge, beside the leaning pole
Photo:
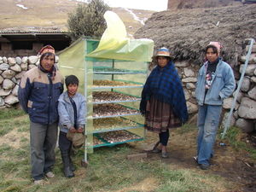
[[[256,102],[248,97],[243,97],[238,108],[238,115],[243,119],[256,119]]]

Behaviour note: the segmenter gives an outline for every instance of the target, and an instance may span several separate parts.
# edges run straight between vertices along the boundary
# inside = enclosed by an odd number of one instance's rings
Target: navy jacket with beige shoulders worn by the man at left
[[[58,98],[63,92],[63,77],[58,71],[55,78],[34,67],[22,77],[18,98],[23,110],[34,123],[48,125],[58,121]]]

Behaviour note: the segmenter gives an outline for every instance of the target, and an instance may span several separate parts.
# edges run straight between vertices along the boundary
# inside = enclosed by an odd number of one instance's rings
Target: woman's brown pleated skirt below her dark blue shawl
[[[181,120],[173,113],[170,104],[160,102],[152,96],[147,102],[145,128],[156,133],[181,126]]]

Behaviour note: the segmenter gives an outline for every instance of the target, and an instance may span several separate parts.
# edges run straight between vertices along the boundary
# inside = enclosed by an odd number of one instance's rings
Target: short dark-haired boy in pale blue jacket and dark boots
[[[79,79],[74,75],[69,75],[65,79],[67,91],[61,94],[58,104],[60,116],[59,148],[61,159],[64,165],[65,177],[74,177],[75,167],[71,160],[72,141],[67,139],[67,132],[84,134],[85,125],[85,98],[79,94]]]

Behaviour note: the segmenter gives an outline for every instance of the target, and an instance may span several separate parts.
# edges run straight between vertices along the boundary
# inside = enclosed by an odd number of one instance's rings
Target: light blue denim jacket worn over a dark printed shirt
[[[206,94],[206,62],[200,69],[195,88],[195,97],[199,105],[222,105],[223,100],[229,97],[236,88],[236,81],[230,65],[222,60],[218,61],[215,76]]]

